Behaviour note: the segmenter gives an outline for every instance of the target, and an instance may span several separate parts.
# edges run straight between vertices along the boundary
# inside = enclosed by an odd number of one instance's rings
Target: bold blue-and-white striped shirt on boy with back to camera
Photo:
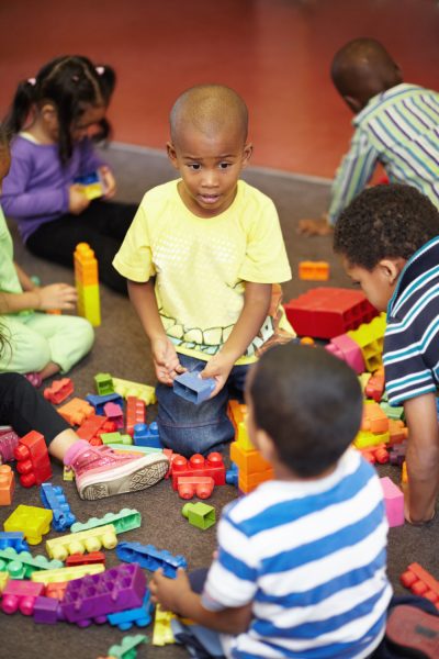
[[[269,481],[229,504],[202,596],[213,611],[252,602],[227,656],[368,657],[392,595],[386,537],[380,481],[351,449],[328,477]]]

